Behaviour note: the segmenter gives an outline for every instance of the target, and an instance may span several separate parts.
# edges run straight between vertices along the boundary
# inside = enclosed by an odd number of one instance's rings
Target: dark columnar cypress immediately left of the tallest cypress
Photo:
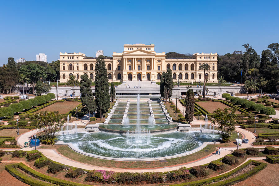
[[[80,93],[81,102],[84,106],[83,109],[88,113],[88,120],[90,122],[90,113],[93,114],[96,111],[96,103],[94,101],[94,96],[91,90],[91,79],[88,78],[86,74],[80,76]]]

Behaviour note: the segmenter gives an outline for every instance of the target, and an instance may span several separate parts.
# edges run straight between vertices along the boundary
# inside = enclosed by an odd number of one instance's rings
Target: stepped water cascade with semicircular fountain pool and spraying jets
[[[58,139],[88,156],[140,161],[183,155],[220,138],[213,132],[177,129],[160,100],[141,99],[138,94],[136,99],[117,99],[99,132],[75,132]]]

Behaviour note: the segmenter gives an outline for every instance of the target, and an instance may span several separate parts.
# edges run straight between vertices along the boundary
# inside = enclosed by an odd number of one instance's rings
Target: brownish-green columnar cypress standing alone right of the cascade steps
[[[195,98],[193,89],[188,89],[187,95],[185,98],[185,120],[188,123],[193,121],[194,118],[194,108],[195,107]]]

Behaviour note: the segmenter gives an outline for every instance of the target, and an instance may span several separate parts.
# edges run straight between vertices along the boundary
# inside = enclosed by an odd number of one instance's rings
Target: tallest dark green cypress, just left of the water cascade
[[[100,112],[100,119],[109,108],[108,73],[104,56],[99,56],[95,65],[95,97]]]

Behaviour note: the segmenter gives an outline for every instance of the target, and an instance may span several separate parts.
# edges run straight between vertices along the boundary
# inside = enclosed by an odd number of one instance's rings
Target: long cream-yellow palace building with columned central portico
[[[174,81],[203,82],[202,63],[208,63],[208,82],[217,82],[217,53],[195,53],[192,58],[166,58],[165,52],[157,53],[154,45],[125,44],[121,53],[113,52],[113,57],[104,58],[108,80],[119,81],[160,81],[163,72],[171,69]],[[67,82],[70,75],[78,80],[87,74],[95,80],[96,57],[86,57],[83,53],[60,52],[60,82]]]

